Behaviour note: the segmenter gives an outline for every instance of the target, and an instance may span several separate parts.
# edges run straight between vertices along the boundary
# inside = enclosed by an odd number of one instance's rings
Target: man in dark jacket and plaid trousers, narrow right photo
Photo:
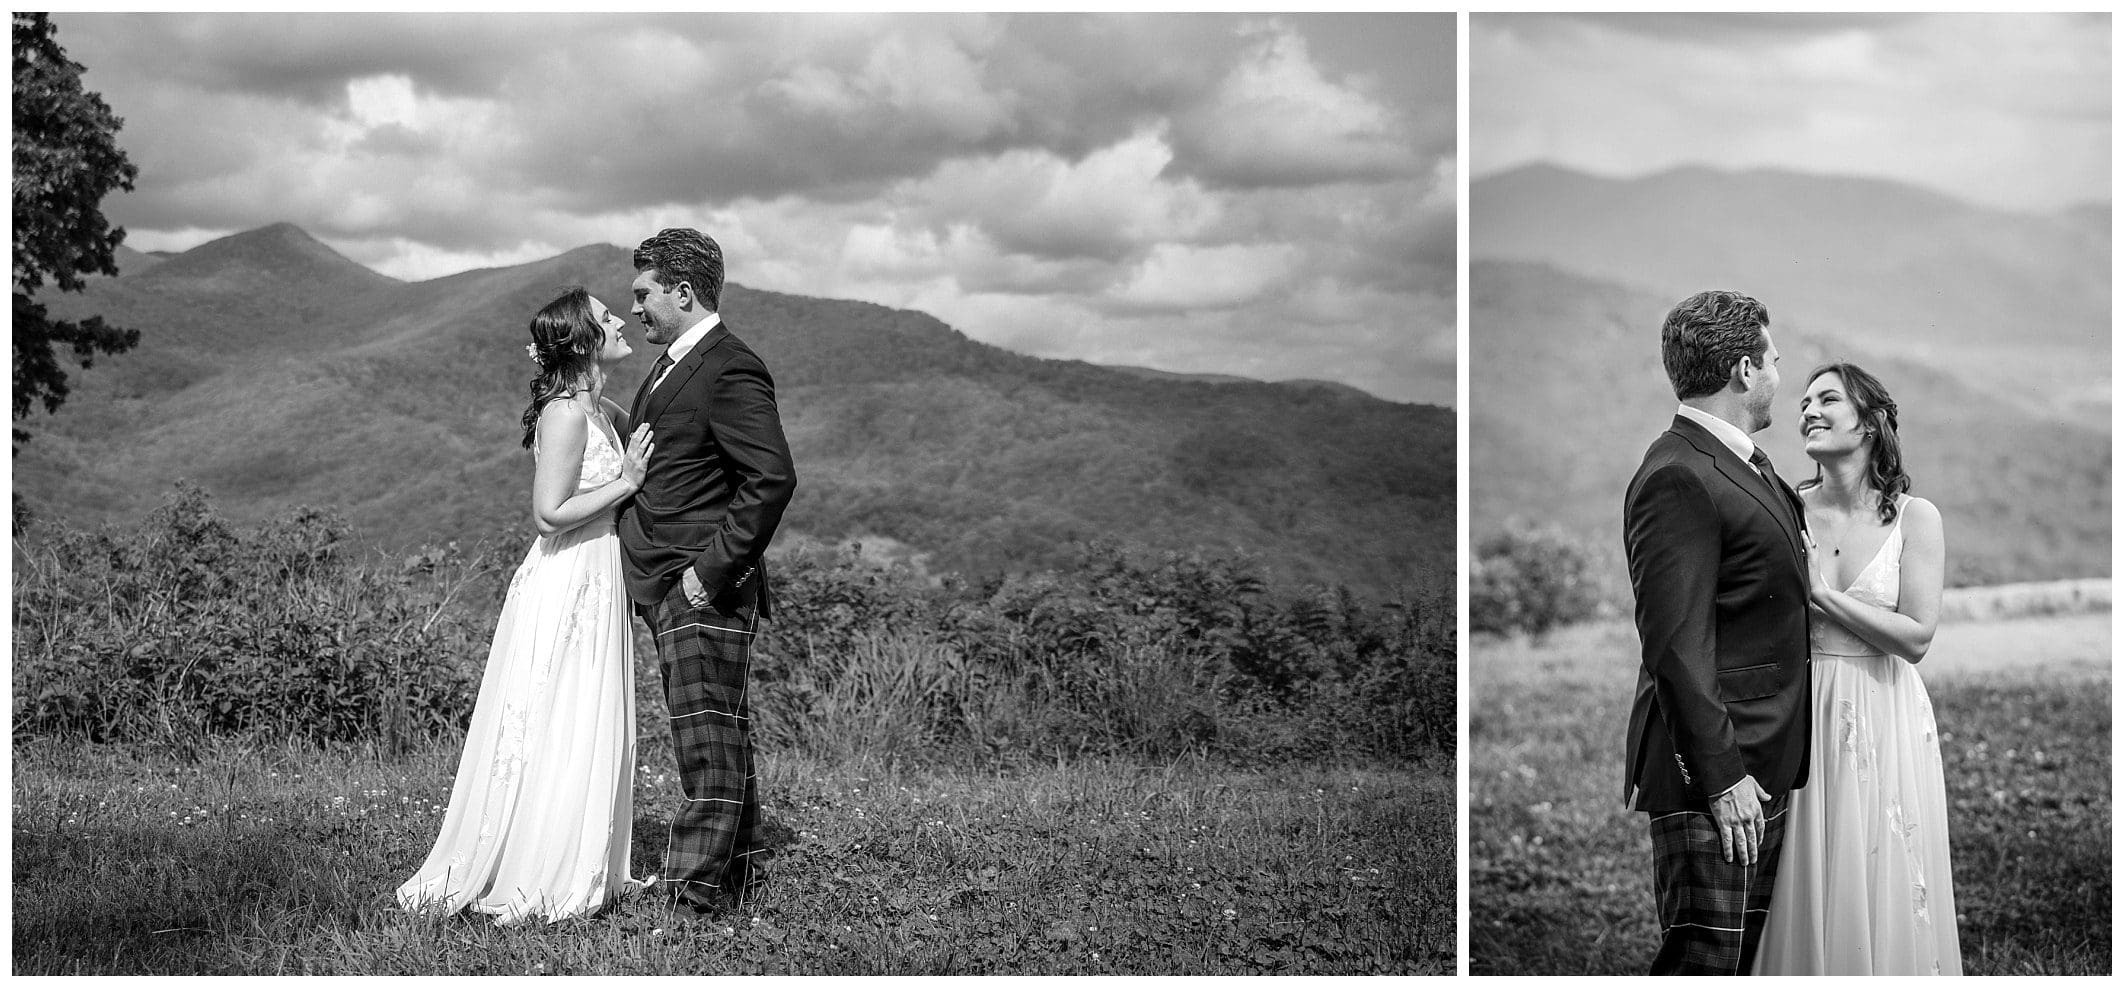
[[[1778,395],[1763,304],[1689,297],[1661,359],[1680,408],[1623,501],[1644,659],[1625,799],[1652,829],[1652,973],[1731,975],[1754,963],[1808,780],[1805,514],[1748,438]]]

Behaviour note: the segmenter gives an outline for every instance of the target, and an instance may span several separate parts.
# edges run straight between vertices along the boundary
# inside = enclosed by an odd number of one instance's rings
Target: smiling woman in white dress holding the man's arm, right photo
[[[1759,975],[1958,975],[1948,793],[1918,659],[1939,625],[1939,508],[1909,497],[1895,402],[1852,363],[1808,378],[1814,737]]]

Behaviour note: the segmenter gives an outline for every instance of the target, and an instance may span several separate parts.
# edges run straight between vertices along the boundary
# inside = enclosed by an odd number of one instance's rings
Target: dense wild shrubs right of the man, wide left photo
[[[1232,557],[1079,546],[1062,574],[932,586],[854,550],[775,569],[769,737],[981,759],[1451,752],[1451,597],[1268,591]]]

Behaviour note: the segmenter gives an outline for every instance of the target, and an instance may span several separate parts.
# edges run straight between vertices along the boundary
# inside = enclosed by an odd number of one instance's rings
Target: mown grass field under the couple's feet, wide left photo
[[[641,744],[633,871],[663,854]],[[15,973],[1451,973],[1446,767],[763,761],[777,873],[673,924],[401,914],[455,748],[15,742]]]

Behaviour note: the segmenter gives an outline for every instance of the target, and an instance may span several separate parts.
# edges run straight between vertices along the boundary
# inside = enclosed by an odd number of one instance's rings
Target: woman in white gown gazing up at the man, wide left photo
[[[629,880],[635,657],[614,508],[641,489],[648,427],[603,397],[633,353],[584,289],[531,319],[525,446],[539,538],[510,580],[442,833],[397,890],[406,909],[514,924],[588,916]]]

